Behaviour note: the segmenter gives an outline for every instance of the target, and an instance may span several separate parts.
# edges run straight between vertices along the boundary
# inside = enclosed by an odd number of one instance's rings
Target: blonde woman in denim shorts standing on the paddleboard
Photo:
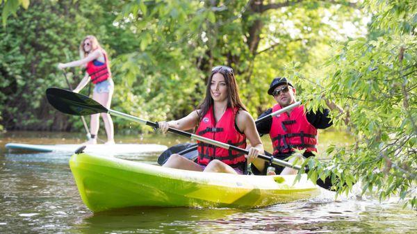
[[[97,38],[92,35],[86,36],[80,44],[81,60],[67,63],[59,63],[59,69],[67,67],[82,66],[87,69],[84,78],[79,85],[72,90],[80,92],[88,82],[95,84],[92,90],[92,99],[99,102],[106,108],[110,108],[111,97],[113,95],[114,83],[111,78],[110,67],[108,66],[108,56],[104,49],[100,47]],[[106,128],[107,142],[106,144],[114,144],[113,121],[108,113],[101,113],[91,116],[90,132],[91,138],[86,144],[97,144],[97,133],[99,132],[99,116],[103,118],[104,128]]]

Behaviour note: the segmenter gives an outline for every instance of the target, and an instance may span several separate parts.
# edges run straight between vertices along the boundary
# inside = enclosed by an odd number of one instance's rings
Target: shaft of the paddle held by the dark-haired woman
[[[284,111],[286,111],[286,110],[284,110]],[[145,119],[140,119],[139,117],[135,117],[133,115],[127,115],[127,114],[125,114],[123,112],[119,112],[117,110],[108,109],[108,113],[110,113],[111,115],[115,115],[117,117],[122,117],[124,119],[131,120],[133,122],[139,122],[140,124],[146,124],[147,126],[152,126],[154,128],[158,128],[159,127],[158,126],[158,123],[156,123],[156,122],[150,122],[150,121],[147,121]],[[275,115],[277,115],[277,114],[275,114]],[[249,153],[249,151],[247,151],[246,149],[242,149],[242,148],[239,148],[239,147],[235,147],[233,145],[226,144],[226,143],[223,143],[223,142],[218,142],[216,140],[211,140],[211,139],[208,139],[206,137],[202,137],[200,135],[195,135],[193,133],[187,133],[186,131],[181,131],[181,130],[178,130],[178,129],[175,129],[175,128],[168,128],[168,131],[170,133],[175,133],[175,134],[178,134],[178,135],[182,135],[184,137],[189,137],[189,138],[191,138],[193,140],[199,140],[201,142],[205,142],[205,143],[208,143],[208,144],[213,144],[216,147],[220,147],[220,148],[223,148],[223,149],[232,149],[234,151],[239,151],[239,152],[245,153],[245,154],[248,154]],[[273,158],[273,157],[270,157],[270,156],[265,156],[263,154],[259,154],[258,157],[261,158],[261,159],[263,159],[263,160],[271,161],[272,164],[275,164],[275,165],[279,165],[279,166],[283,166],[283,167],[291,167],[291,168],[297,169],[297,170],[300,170],[301,169],[300,166],[292,165],[289,162],[286,162],[286,161],[283,161],[283,160],[279,160],[277,158]]]

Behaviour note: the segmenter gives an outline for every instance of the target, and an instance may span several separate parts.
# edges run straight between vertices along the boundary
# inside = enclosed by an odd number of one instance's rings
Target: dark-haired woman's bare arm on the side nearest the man
[[[261,137],[256,131],[254,119],[244,110],[240,110],[236,115],[236,125],[241,132],[245,133],[247,140],[250,142],[251,147],[247,155],[247,163],[249,164],[258,157],[259,153],[263,153]]]

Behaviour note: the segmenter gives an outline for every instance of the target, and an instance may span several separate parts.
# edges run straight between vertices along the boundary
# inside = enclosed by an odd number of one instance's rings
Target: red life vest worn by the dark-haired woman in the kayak
[[[222,118],[218,123],[215,122],[213,106],[208,109],[206,115],[199,122],[197,128],[197,135],[207,137],[209,139],[217,140],[219,142],[224,142],[227,144],[240,147],[242,149],[246,148],[246,136],[236,129],[235,119],[238,112],[238,108],[227,108],[224,112]],[[198,142],[198,155],[197,163],[199,165],[208,165],[213,159],[221,160],[227,165],[242,169],[245,171],[246,167],[246,158],[245,153],[240,153],[231,149],[223,149],[220,147],[215,147],[211,144],[206,144],[204,142]]]

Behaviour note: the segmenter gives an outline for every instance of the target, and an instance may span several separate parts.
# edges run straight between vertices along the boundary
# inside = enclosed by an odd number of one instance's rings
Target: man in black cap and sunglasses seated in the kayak
[[[259,119],[295,103],[295,92],[294,86],[286,78],[274,78],[270,84],[268,94],[274,97],[277,104],[263,112]],[[338,108],[329,101],[327,101],[327,106],[332,109]],[[281,115],[272,117],[272,119],[265,119],[256,124],[259,134],[270,135],[272,146],[274,147],[273,156],[280,160],[291,156],[295,149],[304,150],[302,155],[306,158],[313,156],[313,152],[317,152],[317,129],[324,129],[329,126],[332,126],[329,109],[324,109],[323,112],[320,110],[318,112],[306,112],[304,106],[298,106]],[[297,157],[301,158],[296,156],[290,162],[293,162]],[[267,168],[270,166],[272,165],[269,162],[255,159],[251,167],[254,174],[267,174]],[[277,165],[272,167],[275,167],[275,173],[273,170],[272,172],[268,170],[268,174],[297,174],[297,170],[289,167],[284,168]]]

